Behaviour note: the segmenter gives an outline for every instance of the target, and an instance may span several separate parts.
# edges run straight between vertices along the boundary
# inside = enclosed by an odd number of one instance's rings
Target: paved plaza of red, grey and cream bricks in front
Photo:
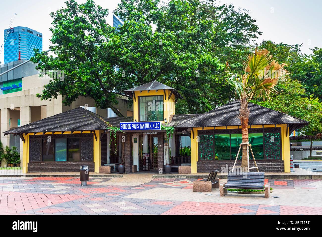
[[[194,193],[194,180],[130,174],[90,178],[81,186],[74,177],[1,177],[0,214],[322,214],[321,179],[266,179],[274,188],[269,199],[264,194],[220,197],[219,189]]]

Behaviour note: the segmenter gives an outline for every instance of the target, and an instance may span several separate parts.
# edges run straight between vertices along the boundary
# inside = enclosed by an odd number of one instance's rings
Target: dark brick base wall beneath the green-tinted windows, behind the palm
[[[234,160],[230,161],[198,161],[197,172],[210,172],[212,170],[220,170],[221,167],[232,167]],[[284,172],[284,161],[283,160],[256,160],[258,169],[260,172]],[[241,161],[237,161],[236,165],[241,165]],[[254,167],[255,164],[250,160],[250,167]],[[257,169],[250,170],[251,172],[257,172]]]

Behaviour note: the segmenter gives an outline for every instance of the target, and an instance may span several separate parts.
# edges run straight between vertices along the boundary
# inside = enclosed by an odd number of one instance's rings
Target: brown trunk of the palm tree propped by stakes
[[[242,145],[242,171],[249,172],[248,167],[248,157],[249,154],[247,152],[247,144],[248,144],[248,118],[249,118],[249,109],[248,102],[246,100],[246,95],[241,96],[241,107],[239,109],[239,119],[242,124],[242,143],[246,143]]]

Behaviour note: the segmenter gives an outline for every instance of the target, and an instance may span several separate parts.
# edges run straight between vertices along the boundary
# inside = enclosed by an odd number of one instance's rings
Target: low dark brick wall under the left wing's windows
[[[29,172],[80,172],[81,165],[88,165],[90,172],[94,172],[94,162],[30,162]]]

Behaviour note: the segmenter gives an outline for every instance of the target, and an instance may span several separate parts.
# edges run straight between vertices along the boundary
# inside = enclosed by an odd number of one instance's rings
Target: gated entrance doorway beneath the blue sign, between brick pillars
[[[156,133],[139,135],[139,170],[157,171],[158,138]]]

